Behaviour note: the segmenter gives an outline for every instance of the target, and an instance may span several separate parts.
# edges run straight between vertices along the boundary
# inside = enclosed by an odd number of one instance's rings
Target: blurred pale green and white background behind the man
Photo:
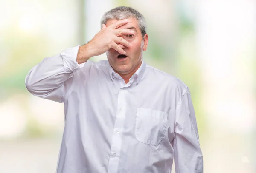
[[[145,62],[189,86],[204,173],[256,173],[255,0],[0,1],[0,173],[55,172],[64,106],[29,94],[24,79],[87,43],[116,6],[145,16]]]

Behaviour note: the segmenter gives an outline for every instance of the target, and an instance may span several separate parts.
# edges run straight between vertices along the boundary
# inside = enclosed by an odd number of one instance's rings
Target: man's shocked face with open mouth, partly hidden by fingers
[[[125,47],[117,43],[126,52],[125,56],[122,56],[118,51],[110,48],[106,54],[108,57],[108,62],[119,74],[133,74],[140,67],[142,62],[142,51],[145,51],[148,46],[148,34],[145,34],[144,40],[142,39],[142,34],[140,28],[138,27],[137,20],[135,18],[128,18],[128,23],[120,26],[119,28],[134,30],[133,35],[121,35],[119,37],[124,38],[130,43],[130,47]],[[110,26],[112,23],[116,22],[116,19],[108,20],[106,26]]]

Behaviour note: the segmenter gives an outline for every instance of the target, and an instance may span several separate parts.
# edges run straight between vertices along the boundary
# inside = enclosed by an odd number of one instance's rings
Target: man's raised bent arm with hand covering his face
[[[50,99],[56,102],[64,102],[74,83],[74,73],[81,68],[90,57],[105,53],[110,48],[125,54],[119,44],[130,47],[127,40],[120,35],[133,34],[130,29],[119,27],[128,23],[128,20],[118,20],[102,29],[93,39],[83,46],[69,48],[53,57],[47,57],[32,70],[25,79],[26,88],[35,96]]]

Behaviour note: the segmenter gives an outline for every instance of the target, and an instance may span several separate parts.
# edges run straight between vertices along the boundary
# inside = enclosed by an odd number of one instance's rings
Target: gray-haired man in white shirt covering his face
[[[26,77],[35,96],[64,102],[57,173],[203,173],[189,88],[142,59],[145,19],[118,7],[89,43],[45,58]],[[90,61],[107,54],[108,60]]]

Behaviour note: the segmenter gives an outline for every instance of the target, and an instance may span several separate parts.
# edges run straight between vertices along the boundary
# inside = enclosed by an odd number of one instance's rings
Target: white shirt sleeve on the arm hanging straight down
[[[175,115],[175,172],[203,173],[203,156],[189,88],[184,93]]]

